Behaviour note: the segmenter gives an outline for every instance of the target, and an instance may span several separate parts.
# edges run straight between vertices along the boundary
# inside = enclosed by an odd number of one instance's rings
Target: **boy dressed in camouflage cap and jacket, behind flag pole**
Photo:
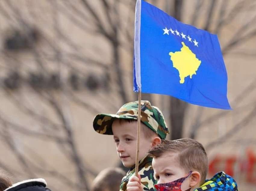
[[[130,170],[123,177],[120,190],[126,191],[126,185],[135,174],[137,142],[138,101],[123,105],[116,114],[98,114],[94,118],[93,128],[105,135],[114,135],[117,154],[125,167]],[[139,174],[142,190],[154,191],[156,183],[153,177],[152,158],[147,157],[148,150],[159,144],[169,133],[162,112],[148,101],[141,101],[141,136],[139,145]]]

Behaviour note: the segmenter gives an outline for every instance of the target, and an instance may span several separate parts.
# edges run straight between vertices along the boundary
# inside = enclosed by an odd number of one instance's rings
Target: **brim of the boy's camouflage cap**
[[[112,123],[115,119],[137,120],[137,117],[117,114],[98,114],[93,120],[93,128],[99,134],[113,135]]]

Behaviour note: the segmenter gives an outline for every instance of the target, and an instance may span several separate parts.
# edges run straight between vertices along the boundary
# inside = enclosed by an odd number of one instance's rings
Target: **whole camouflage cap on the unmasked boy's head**
[[[93,128],[97,133],[113,135],[112,123],[115,119],[138,119],[138,101],[124,104],[116,114],[98,114],[93,120]],[[149,129],[165,139],[169,134],[162,112],[149,101],[141,101],[141,122]]]

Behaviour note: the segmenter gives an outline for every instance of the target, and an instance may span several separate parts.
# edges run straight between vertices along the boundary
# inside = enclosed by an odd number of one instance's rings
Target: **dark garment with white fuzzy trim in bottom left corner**
[[[46,181],[42,178],[24,180],[13,184],[4,191],[51,191],[46,188]]]

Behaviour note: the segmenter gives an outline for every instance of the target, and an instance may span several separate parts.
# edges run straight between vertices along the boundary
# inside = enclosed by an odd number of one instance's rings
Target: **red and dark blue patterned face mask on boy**
[[[174,180],[173,182],[168,183],[162,183],[162,184],[155,184],[155,188],[157,191],[182,191],[181,190],[181,184],[186,180],[190,175],[192,174],[192,171],[189,172],[189,174],[185,175],[182,178],[179,178],[177,180]],[[189,189],[186,189],[185,191],[189,191]]]

